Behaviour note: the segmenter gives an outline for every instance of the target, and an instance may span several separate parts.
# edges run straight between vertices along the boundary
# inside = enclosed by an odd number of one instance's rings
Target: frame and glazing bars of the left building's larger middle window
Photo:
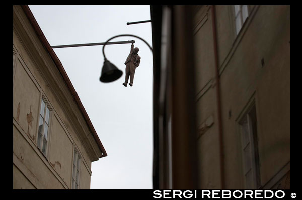
[[[44,102],[44,111],[43,111],[43,117],[41,116],[41,109],[42,109],[42,102]],[[46,122],[46,111],[47,111],[47,108],[48,108],[48,122]],[[46,97],[42,94],[41,98],[40,98],[40,105],[39,105],[39,114],[38,114],[38,122],[37,122],[37,134],[36,134],[36,145],[39,149],[39,151],[42,153],[42,155],[44,155],[46,158],[48,157],[48,150],[49,150],[49,143],[50,143],[50,134],[51,134],[51,123],[52,123],[52,114],[53,114],[53,109],[50,105],[50,103],[47,101]],[[42,133],[40,134],[40,119],[43,119],[43,122],[42,122],[42,127],[41,127],[41,130],[42,130]],[[46,136],[46,148],[45,148],[45,152],[43,152],[43,142],[44,142],[44,134],[45,134],[45,124],[47,124],[48,126],[48,130],[47,130],[47,136]],[[39,142],[39,136],[41,135],[41,140]]]

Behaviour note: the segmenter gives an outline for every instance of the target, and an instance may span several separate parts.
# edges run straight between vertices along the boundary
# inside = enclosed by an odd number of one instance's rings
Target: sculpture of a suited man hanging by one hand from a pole
[[[130,76],[130,83],[129,85],[132,87],[133,85],[133,79],[134,79],[134,73],[135,73],[135,69],[136,67],[139,66],[140,63],[140,57],[137,54],[139,51],[139,49],[137,47],[134,48],[133,43],[131,44],[131,51],[130,54],[128,55],[125,65],[126,65],[126,78],[125,78],[125,82],[123,83],[123,85],[125,87],[127,87],[127,83],[128,83],[128,79]]]

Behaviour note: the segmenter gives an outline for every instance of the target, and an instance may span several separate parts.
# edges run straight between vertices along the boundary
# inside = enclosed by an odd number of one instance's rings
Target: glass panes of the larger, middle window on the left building
[[[39,128],[38,128],[38,148],[46,156],[47,143],[48,143],[48,133],[49,133],[49,118],[50,118],[50,108],[47,103],[42,98],[40,117],[39,117]]]

